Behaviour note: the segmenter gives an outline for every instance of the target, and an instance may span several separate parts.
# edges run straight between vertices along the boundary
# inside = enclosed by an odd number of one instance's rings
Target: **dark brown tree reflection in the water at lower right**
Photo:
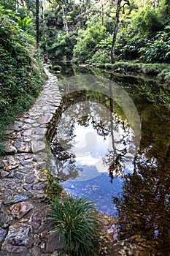
[[[139,242],[146,250],[150,243],[156,250],[154,255],[169,255],[169,126],[150,122],[148,129],[143,122],[142,136],[134,173],[124,177],[123,192],[113,199],[118,211],[118,238]]]

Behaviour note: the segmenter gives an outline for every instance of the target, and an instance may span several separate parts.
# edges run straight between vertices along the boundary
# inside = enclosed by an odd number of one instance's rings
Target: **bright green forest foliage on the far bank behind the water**
[[[50,58],[110,62],[117,1],[52,2],[45,15]],[[130,6],[124,6],[125,1],[121,1],[116,59],[169,63],[169,1],[129,3]]]

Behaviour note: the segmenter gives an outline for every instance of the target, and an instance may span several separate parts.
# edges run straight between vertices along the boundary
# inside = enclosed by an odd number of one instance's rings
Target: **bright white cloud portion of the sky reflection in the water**
[[[64,117],[63,117],[64,119]],[[96,129],[94,129],[92,124],[92,119],[90,118],[88,126],[84,127],[80,124],[74,123],[74,133],[73,138],[69,138],[68,133],[63,135],[62,127],[58,127],[58,138],[62,138],[62,146],[66,148],[64,141],[66,143],[68,140],[72,143],[72,148],[69,149],[69,153],[74,155],[76,159],[76,165],[81,167],[81,165],[93,165],[96,167],[96,171],[99,173],[108,172],[108,165],[104,162],[107,160],[107,155],[109,152],[113,151],[113,146],[115,146],[116,154],[120,154],[124,148],[132,148],[132,152],[135,150],[133,146],[134,132],[131,128],[123,129],[123,125],[116,123],[116,129],[113,129],[113,135],[111,135],[110,128],[107,129],[108,135],[98,135]],[[133,154],[126,153],[127,157],[133,157]],[[112,157],[112,161],[115,160]]]

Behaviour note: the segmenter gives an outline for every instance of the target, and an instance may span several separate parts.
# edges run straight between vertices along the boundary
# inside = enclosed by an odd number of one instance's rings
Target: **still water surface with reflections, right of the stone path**
[[[110,75],[80,67],[67,68],[67,74],[62,70],[58,79],[87,72]],[[112,79],[127,91],[138,110],[139,145],[133,124],[117,102],[88,86],[66,95],[68,86],[61,83],[63,108],[51,140],[56,175],[74,197],[87,197],[98,211],[118,217],[120,239],[144,236],[161,248],[160,255],[168,255],[170,118],[165,99],[170,102],[169,94],[150,79],[128,75]]]

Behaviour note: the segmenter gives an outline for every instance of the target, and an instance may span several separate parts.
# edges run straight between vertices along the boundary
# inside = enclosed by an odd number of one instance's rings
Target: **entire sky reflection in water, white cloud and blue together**
[[[121,192],[122,179],[121,175],[116,177],[113,172],[115,177],[112,183],[110,182],[109,165],[106,164],[106,160],[111,154],[110,159],[114,161],[117,154],[121,154],[121,151],[126,148],[127,153],[123,155],[124,160],[120,161],[120,164],[123,167],[123,174],[132,173],[134,170],[134,165],[131,164],[134,154],[134,132],[125,122],[118,120],[114,115],[112,116],[112,129],[110,120],[103,123],[104,135],[102,132],[99,135],[97,129],[93,127],[93,118],[88,119],[88,125],[86,123],[86,126],[78,124],[77,120],[78,117],[69,123],[69,127],[74,125],[72,132],[69,132],[68,126],[64,129],[64,124],[69,122],[69,116],[66,115],[66,112],[63,113],[63,117],[58,124],[56,140],[59,143],[62,142],[61,146],[63,148],[68,148],[68,141],[70,141],[71,148],[65,150],[65,152],[67,151],[72,157],[74,156],[73,161],[70,161],[70,159],[64,160],[60,174],[65,175],[63,180],[66,180],[68,175],[69,180],[64,181],[61,185],[73,197],[89,198],[96,204],[98,211],[115,216],[116,208],[112,203],[112,197],[116,197]],[[72,118],[70,121],[72,121]],[[97,122],[98,118],[96,119]],[[113,145],[116,151],[115,155],[113,154]],[[58,154],[60,153],[58,152]],[[109,164],[112,163],[110,159]],[[78,170],[76,177],[72,176],[72,173],[70,175],[70,167],[77,168],[77,170],[78,168],[81,169]],[[62,176],[58,176],[58,178],[62,179]]]

